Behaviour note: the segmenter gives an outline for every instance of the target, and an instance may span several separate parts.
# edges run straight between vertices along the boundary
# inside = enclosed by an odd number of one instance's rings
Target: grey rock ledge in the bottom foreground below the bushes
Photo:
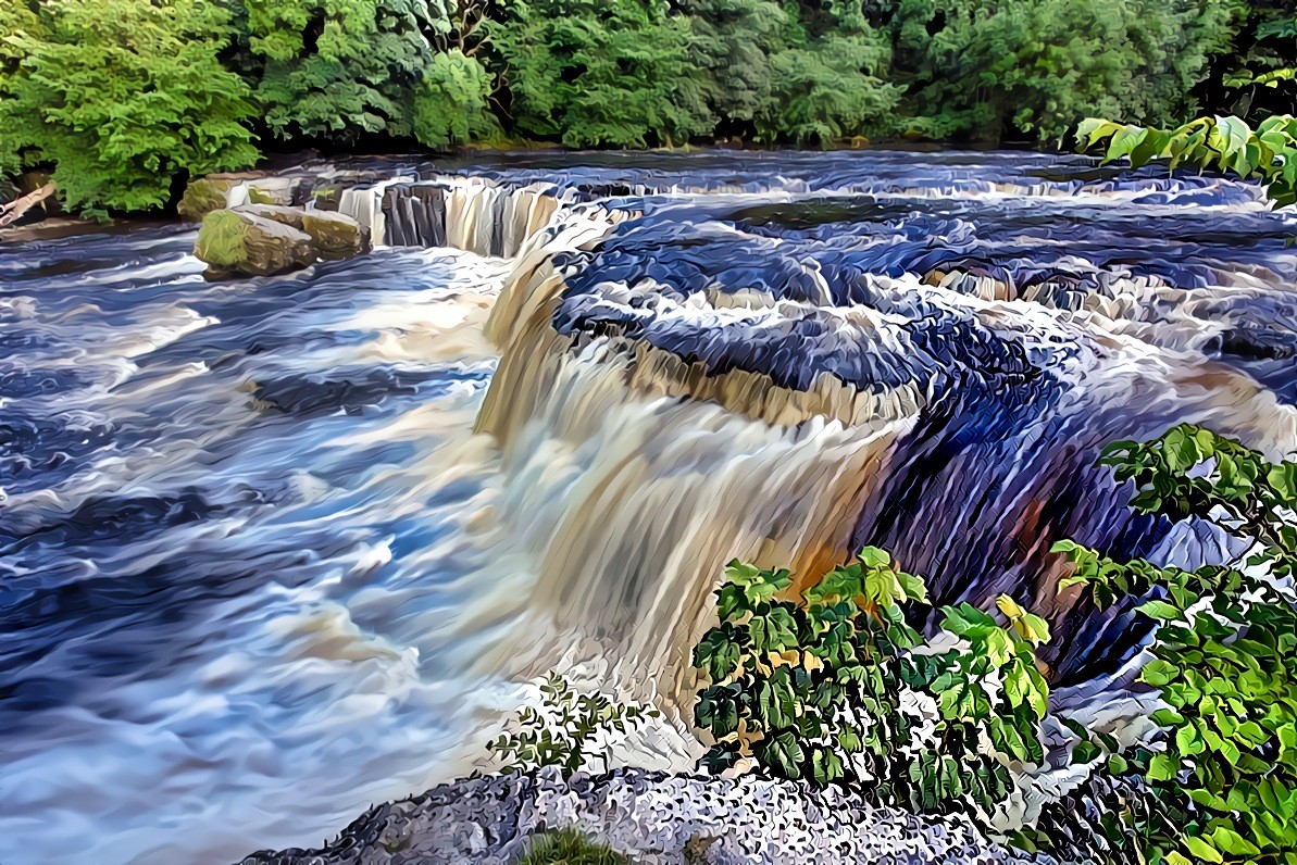
[[[1053,865],[983,838],[962,818],[916,817],[857,796],[755,776],[623,769],[486,776],[380,805],[319,849],[262,851],[241,865],[505,865],[540,831],[575,826],[646,865]]]

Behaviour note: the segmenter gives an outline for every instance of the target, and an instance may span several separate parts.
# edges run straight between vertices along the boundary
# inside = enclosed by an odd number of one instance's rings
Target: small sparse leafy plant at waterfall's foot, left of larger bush
[[[486,746],[506,760],[505,772],[559,766],[569,776],[593,756],[590,748],[601,733],[625,733],[645,718],[658,717],[656,709],[619,705],[602,694],[577,694],[556,673],[541,686],[541,709],[524,708],[518,713],[518,729]]]

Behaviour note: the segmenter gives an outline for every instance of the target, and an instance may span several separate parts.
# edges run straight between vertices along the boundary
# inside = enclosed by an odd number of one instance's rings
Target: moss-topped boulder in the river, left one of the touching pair
[[[214,210],[202,219],[195,254],[209,265],[208,279],[236,274],[270,276],[316,259],[310,235],[254,213]]]

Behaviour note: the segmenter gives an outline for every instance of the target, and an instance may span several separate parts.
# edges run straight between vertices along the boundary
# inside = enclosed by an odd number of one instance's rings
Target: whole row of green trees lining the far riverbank
[[[100,210],[302,147],[1060,144],[1297,92],[1291,0],[12,0],[0,32],[0,174]]]

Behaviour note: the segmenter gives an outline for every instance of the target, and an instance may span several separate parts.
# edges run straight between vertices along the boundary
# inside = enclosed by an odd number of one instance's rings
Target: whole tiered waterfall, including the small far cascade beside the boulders
[[[934,213],[1017,198],[1119,207],[1162,193],[1200,188],[1016,179],[888,192],[935,201]],[[1128,612],[1057,597],[1064,563],[1051,543],[1183,549],[1170,527],[1128,512],[1093,466],[1099,450],[1196,421],[1280,455],[1297,442],[1292,407],[1202,357],[1219,326],[1195,311],[1174,267],[1157,275],[1086,248],[1044,266],[1017,250],[988,262],[962,222],[939,223],[964,249],[943,261],[926,215],[913,246],[896,235],[891,246],[825,244],[818,217],[813,244],[794,245],[778,231],[759,240],[747,217],[717,218],[729,207],[765,220],[769,202],[859,206],[822,195],[792,178],[754,191],[402,172],[346,188],[339,206],[377,245],[510,259],[486,324],[501,361],[476,429],[502,454],[515,546],[536,562],[538,626],[678,693],[725,562],[811,580],[878,545],[942,603],[1008,591],[1047,613],[1061,681],[1118,664],[1132,648]],[[857,248],[886,258],[844,268],[835,249]],[[709,259],[742,270],[698,272]],[[898,261],[903,272],[882,263]],[[1211,279],[1255,283],[1243,270]]]

